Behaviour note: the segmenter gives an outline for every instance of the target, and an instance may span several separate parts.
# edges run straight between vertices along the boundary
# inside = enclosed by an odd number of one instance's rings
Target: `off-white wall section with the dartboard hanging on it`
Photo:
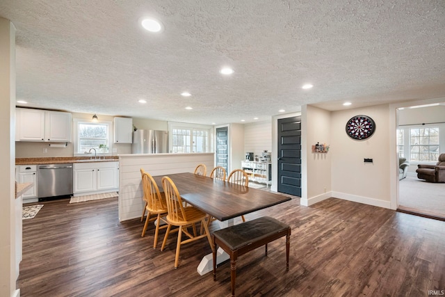
[[[375,122],[373,136],[355,141],[346,134],[346,122],[368,115]],[[337,198],[390,208],[389,106],[371,106],[331,113],[332,195]],[[364,159],[373,163],[364,163]]]

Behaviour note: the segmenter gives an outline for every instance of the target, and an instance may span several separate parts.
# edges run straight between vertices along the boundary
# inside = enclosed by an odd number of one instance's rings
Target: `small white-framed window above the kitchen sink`
[[[74,154],[83,155],[88,152],[109,154],[111,122],[88,122],[74,120]]]

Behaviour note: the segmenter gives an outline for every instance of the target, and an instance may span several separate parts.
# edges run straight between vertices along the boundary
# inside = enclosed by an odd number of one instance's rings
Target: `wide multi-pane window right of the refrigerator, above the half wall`
[[[169,122],[170,147],[174,153],[211,152],[211,126]]]

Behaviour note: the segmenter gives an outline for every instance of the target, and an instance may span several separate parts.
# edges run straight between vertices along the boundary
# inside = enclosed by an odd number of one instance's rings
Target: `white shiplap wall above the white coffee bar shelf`
[[[261,152],[272,152],[272,122],[270,120],[253,122],[244,125],[244,153],[253,152],[261,156]]]

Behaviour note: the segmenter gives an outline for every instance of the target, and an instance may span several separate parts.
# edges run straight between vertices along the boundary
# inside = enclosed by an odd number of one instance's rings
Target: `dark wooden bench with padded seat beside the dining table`
[[[230,226],[213,232],[213,280],[216,280],[216,247],[220,246],[230,256],[230,278],[232,282],[232,296],[235,296],[236,259],[238,256],[250,252],[286,236],[286,271],[289,271],[289,248],[291,227],[275,218],[264,216],[239,225]]]

